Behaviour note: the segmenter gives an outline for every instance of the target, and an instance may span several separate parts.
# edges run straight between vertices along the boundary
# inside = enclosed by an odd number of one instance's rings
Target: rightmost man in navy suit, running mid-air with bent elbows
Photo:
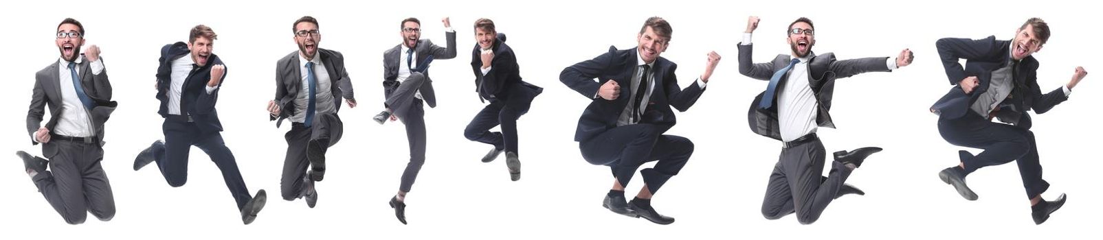
[[[1049,111],[1069,99],[1072,88],[1088,76],[1083,67],[1077,67],[1068,84],[1042,94],[1038,87],[1038,59],[1031,55],[1041,51],[1049,36],[1049,24],[1034,18],[1019,26],[1011,41],[988,36],[935,42],[950,84],[956,85],[931,107],[939,114],[939,133],[950,144],[984,150],[977,155],[959,151],[959,163],[939,172],[939,178],[953,185],[965,199],[976,200],[976,193],[965,185],[965,176],[985,166],[1016,161],[1036,225],[1061,208],[1065,195],[1052,201],[1041,197],[1049,183],[1041,178],[1038,145],[1027,111]],[[966,59],[964,67],[962,58]],[[993,122],[993,118],[1003,123]]]

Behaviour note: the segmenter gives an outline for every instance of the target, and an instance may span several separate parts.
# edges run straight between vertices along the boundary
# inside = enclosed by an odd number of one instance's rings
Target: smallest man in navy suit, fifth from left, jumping
[[[479,19],[474,24],[475,44],[471,52],[471,70],[475,75],[475,91],[480,101],[490,101],[468,123],[463,135],[468,140],[494,145],[482,157],[483,163],[497,159],[505,152],[505,166],[510,179],[521,179],[521,160],[517,152],[517,119],[528,112],[533,98],[544,88],[521,80],[517,56],[505,44],[505,34],[497,33],[494,21]],[[495,126],[502,132],[491,132]]]

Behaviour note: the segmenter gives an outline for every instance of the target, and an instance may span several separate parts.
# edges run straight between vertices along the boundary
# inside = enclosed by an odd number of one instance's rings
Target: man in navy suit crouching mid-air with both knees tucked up
[[[666,20],[652,17],[640,28],[636,47],[610,47],[608,53],[559,74],[559,81],[591,100],[578,119],[575,141],[587,162],[612,170],[612,189],[601,206],[660,225],[673,223],[674,218],[660,215],[651,206],[651,198],[682,171],[694,151],[689,139],[663,134],[676,122],[671,107],[686,111],[697,102],[720,62],[719,54],[708,53],[705,73],[679,88],[674,74],[677,65],[660,57],[670,46],[672,32]],[[624,187],[636,168],[651,161],[658,162],[640,171],[643,187],[632,201],[627,201]]]

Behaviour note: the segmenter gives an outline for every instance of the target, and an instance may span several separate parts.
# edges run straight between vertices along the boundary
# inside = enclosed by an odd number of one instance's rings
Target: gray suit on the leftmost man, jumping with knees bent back
[[[118,103],[111,101],[111,83],[107,79],[107,69],[93,75],[88,59],[81,57],[83,62],[77,65],[81,85],[95,106],[88,110],[95,135],[84,138],[84,141],[57,135],[51,138],[50,142],[42,144],[42,154],[50,159],[52,173],[39,173],[32,178],[46,201],[66,222],[74,225],[84,222],[86,212],[92,212],[101,220],[115,217],[115,197],[100,162],[104,159],[104,122]],[[34,90],[26,112],[26,131],[32,144],[38,144],[33,139],[42,122],[44,107],[50,106],[51,112],[46,129],[53,131],[57,120],[63,117],[62,88],[58,84],[71,83],[61,83],[58,72],[57,62],[53,62],[34,76]]]

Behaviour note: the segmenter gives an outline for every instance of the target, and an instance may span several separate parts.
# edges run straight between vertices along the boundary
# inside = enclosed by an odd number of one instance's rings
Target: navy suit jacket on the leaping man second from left
[[[188,44],[176,42],[161,47],[161,57],[158,59],[160,66],[157,67],[157,99],[161,101],[160,113],[162,118],[169,117],[169,87],[172,85],[172,61],[188,55]],[[211,54],[206,65],[192,69],[184,79],[183,88],[180,91],[180,114],[191,116],[201,134],[210,134],[222,131],[222,122],[218,121],[218,111],[215,103],[218,101],[218,91],[226,83],[229,75],[229,67],[226,67],[218,88],[206,92],[206,84],[211,80],[211,67],[221,65],[222,59],[214,53]]]

